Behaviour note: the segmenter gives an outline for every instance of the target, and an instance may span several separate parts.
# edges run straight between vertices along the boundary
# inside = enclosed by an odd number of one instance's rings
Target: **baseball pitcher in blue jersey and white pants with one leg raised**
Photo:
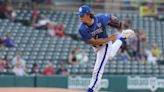
[[[91,8],[87,5],[79,8],[78,15],[81,21],[79,34],[82,40],[90,44],[97,54],[92,79],[87,92],[97,92],[107,60],[111,60],[115,56],[122,42],[134,35],[134,32],[130,29],[123,30],[128,25],[119,21],[117,17],[111,14],[93,15]],[[122,36],[118,39],[115,35],[108,37],[106,26],[117,28],[118,31],[122,32]],[[112,41],[115,42],[112,43]]]

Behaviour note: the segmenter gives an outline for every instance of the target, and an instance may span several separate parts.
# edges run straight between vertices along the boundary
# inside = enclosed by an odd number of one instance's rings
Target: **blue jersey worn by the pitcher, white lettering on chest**
[[[110,21],[111,14],[96,14],[94,15],[94,23],[87,26],[85,23],[80,24],[79,33],[83,41],[89,39],[106,38],[106,26]]]

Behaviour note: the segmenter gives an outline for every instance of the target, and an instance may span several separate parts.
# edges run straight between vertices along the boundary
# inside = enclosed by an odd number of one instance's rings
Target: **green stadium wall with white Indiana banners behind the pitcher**
[[[85,90],[91,76],[0,76],[0,87],[54,87]],[[104,76],[101,90],[116,92],[164,92],[164,77]]]

